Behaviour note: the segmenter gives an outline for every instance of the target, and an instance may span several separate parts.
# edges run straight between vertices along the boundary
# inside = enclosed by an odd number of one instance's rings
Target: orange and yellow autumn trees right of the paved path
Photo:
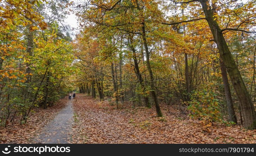
[[[76,38],[76,55],[85,57],[77,64],[84,71],[79,77],[90,77],[77,81],[80,91],[95,87],[100,99],[112,96],[117,108],[155,105],[157,116],[162,116],[159,103],[180,105],[206,131],[214,122],[254,129],[254,11],[253,1],[80,4],[83,31]],[[88,51],[90,57],[84,55]]]

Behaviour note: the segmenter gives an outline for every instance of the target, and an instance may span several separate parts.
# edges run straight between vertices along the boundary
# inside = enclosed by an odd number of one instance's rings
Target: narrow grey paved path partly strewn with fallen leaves
[[[58,112],[55,118],[46,126],[43,131],[34,138],[34,141],[39,144],[67,144],[70,141],[71,135],[69,132],[72,129],[73,108],[71,99],[66,106]]]

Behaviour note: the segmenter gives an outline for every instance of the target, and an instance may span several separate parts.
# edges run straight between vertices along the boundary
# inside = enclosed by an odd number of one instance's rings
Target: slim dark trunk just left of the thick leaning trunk
[[[226,97],[227,106],[228,106],[229,121],[233,121],[234,123],[237,123],[236,114],[233,106],[233,100],[232,100],[229,83],[228,83],[227,70],[222,60],[220,60],[220,69],[221,69],[221,75],[222,75],[222,80],[224,85],[225,97]]]

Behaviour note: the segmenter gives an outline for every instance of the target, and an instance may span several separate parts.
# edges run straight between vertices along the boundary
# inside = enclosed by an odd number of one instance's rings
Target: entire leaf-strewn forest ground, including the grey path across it
[[[256,130],[215,123],[206,132],[175,106],[161,109],[164,117],[159,118],[154,107],[116,109],[108,100],[77,94],[75,100],[64,98],[53,107],[37,108],[26,124],[0,129],[0,143],[256,143]]]

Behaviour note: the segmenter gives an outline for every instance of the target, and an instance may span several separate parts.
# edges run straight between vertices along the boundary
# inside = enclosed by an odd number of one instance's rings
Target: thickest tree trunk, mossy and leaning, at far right
[[[236,92],[238,100],[240,102],[241,111],[243,115],[244,127],[247,129],[256,129],[256,115],[253,103],[246,86],[244,85],[242,76],[238,70],[238,67],[233,59],[233,56],[227,46],[227,43],[223,37],[223,33],[214,20],[213,10],[207,5],[208,0],[200,0],[208,25],[213,34],[214,41],[216,42],[219,50],[220,57],[222,58],[232,82],[233,88]]]

